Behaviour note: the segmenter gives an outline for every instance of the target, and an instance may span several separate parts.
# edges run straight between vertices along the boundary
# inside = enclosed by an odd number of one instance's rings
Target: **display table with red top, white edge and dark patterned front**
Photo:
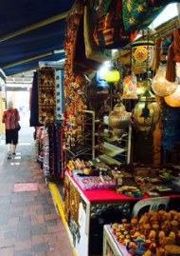
[[[179,199],[180,195],[170,197]],[[145,194],[143,199],[146,198],[150,197]],[[140,199],[117,194],[115,190],[83,190],[75,177],[66,171],[64,214],[77,254],[102,255],[103,226],[130,218],[135,202]]]

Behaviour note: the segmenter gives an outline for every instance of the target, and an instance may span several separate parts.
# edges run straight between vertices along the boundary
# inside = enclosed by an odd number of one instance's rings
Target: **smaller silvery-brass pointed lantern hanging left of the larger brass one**
[[[109,127],[113,129],[117,137],[120,137],[124,129],[129,127],[131,117],[120,99],[117,100],[117,105],[110,112],[108,121]]]

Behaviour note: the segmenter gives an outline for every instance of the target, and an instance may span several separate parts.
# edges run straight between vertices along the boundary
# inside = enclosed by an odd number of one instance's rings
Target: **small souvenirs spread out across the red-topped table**
[[[177,167],[131,167],[112,169],[98,158],[94,161],[77,159],[67,163],[68,170],[83,190],[114,189],[129,197],[180,194]]]

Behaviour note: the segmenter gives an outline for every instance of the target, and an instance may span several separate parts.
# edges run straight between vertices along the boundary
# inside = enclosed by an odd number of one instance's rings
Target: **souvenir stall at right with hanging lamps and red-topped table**
[[[158,253],[168,253],[171,245],[178,250],[177,231],[172,243],[161,245],[159,230],[154,230],[154,224],[161,228],[162,215],[169,216],[166,241],[170,241],[173,221],[180,211],[178,156],[175,165],[168,159],[174,147],[177,154],[174,142],[180,140],[179,106],[172,106],[168,98],[178,89],[178,82],[170,78],[175,69],[167,61],[171,44],[175,52],[172,31],[178,29],[172,19],[156,31],[147,30],[171,1],[147,2],[141,3],[139,13],[135,1],[103,1],[101,5],[76,1],[67,18],[61,128],[63,199],[78,255],[137,255],[141,248],[141,255],[164,255]],[[106,60],[111,70],[99,78],[97,71]],[[99,87],[100,79],[104,87]],[[160,83],[158,79],[164,80]],[[87,111],[92,111],[93,118],[87,118]],[[174,123],[174,131],[170,132],[169,122]],[[88,134],[93,144],[87,143]],[[165,206],[160,205],[164,211],[153,206],[158,215],[150,211],[143,224],[148,226],[153,214],[158,219],[149,226],[153,234],[156,232],[154,244],[150,234],[135,237],[140,226],[135,226],[136,233],[128,230],[133,229],[133,220],[142,221],[132,217],[135,204],[154,203],[159,198],[168,200]]]

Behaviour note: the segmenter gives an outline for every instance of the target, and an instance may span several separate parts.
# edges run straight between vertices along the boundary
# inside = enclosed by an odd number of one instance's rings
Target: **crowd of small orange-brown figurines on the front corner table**
[[[180,255],[180,212],[151,210],[131,222],[122,219],[113,224],[112,232],[117,243],[126,246],[132,255]]]

